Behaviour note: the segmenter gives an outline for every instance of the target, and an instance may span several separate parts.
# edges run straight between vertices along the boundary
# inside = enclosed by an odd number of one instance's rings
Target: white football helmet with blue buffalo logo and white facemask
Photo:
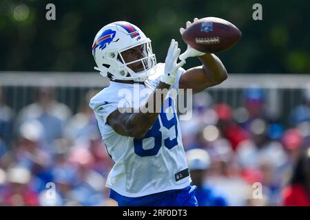
[[[125,63],[121,52],[138,45],[144,45],[145,56]],[[156,72],[156,57],[152,52],[151,40],[136,25],[126,21],[117,21],[101,28],[95,36],[92,55],[98,66],[94,69],[112,80],[144,82],[150,74]],[[136,62],[143,64],[143,71],[134,72],[127,66]]]

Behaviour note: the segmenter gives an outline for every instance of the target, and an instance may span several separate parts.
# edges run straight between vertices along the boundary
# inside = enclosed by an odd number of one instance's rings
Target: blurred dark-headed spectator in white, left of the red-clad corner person
[[[268,197],[269,205],[276,205],[282,199],[281,190],[285,184],[288,161],[285,149],[278,140],[269,138],[266,120],[252,120],[249,131],[251,139],[242,142],[238,147],[238,162],[247,172],[258,170],[259,182]]]

